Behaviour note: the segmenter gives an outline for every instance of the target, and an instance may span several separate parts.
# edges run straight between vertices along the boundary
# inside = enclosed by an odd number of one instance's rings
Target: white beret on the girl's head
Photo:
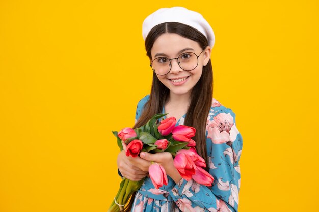
[[[214,46],[215,35],[209,23],[198,12],[183,7],[161,8],[147,16],[142,25],[144,41],[154,26],[165,22],[179,22],[192,26],[206,36],[208,45],[211,46],[211,48]]]

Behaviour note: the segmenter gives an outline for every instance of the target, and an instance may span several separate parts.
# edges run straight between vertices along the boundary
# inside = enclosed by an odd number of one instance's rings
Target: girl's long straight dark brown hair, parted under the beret
[[[151,58],[151,49],[155,40],[163,33],[176,33],[182,37],[196,41],[202,49],[208,46],[206,37],[197,29],[178,22],[166,22],[156,25],[151,29],[145,39],[146,55]],[[165,102],[168,100],[170,90],[158,80],[153,73],[153,82],[149,100],[145,103],[141,116],[133,128],[141,127],[146,124],[156,113],[162,113]],[[194,127],[196,129],[195,138],[196,150],[198,154],[205,159],[208,171],[208,158],[206,149],[206,125],[207,116],[212,101],[212,67],[211,61],[203,66],[202,75],[191,92],[191,103],[187,110],[184,125]],[[135,194],[134,194],[135,196]],[[132,196],[125,211],[131,209],[134,196]]]

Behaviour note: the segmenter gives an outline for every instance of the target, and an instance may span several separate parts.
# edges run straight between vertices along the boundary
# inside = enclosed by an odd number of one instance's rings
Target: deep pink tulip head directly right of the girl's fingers
[[[192,175],[195,174],[196,165],[192,158],[187,154],[180,153],[174,158],[174,166],[182,178],[190,180]]]

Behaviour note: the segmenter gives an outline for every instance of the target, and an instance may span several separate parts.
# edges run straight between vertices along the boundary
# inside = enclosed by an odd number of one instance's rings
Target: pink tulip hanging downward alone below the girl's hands
[[[167,185],[167,175],[164,167],[161,164],[153,163],[148,168],[149,177],[155,189],[159,189],[163,185]]]

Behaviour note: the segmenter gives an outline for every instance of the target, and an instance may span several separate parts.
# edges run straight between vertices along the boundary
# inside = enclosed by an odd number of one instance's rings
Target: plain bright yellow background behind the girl
[[[152,71],[141,25],[161,7],[216,35],[214,97],[244,147],[240,211],[318,211],[317,1],[0,1],[0,211],[107,211],[111,130],[134,124]]]

